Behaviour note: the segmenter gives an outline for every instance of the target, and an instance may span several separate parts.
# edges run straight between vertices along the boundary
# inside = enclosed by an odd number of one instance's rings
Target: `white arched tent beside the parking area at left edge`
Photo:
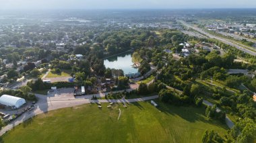
[[[19,108],[26,103],[25,99],[20,97],[14,97],[11,95],[2,95],[0,97],[0,104]]]

